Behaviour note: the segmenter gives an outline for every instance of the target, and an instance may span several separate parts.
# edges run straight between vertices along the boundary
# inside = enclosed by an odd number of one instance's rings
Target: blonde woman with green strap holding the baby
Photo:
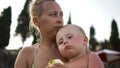
[[[40,32],[40,43],[23,48],[14,68],[45,68],[48,61],[60,58],[55,36],[63,26],[63,12],[55,0],[35,0],[30,6],[31,24]],[[40,46],[40,47],[39,47]]]

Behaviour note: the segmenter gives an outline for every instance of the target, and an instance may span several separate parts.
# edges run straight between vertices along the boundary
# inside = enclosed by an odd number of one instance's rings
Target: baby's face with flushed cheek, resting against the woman
[[[58,31],[56,42],[62,56],[70,59],[84,52],[85,38],[77,27],[66,26]]]

